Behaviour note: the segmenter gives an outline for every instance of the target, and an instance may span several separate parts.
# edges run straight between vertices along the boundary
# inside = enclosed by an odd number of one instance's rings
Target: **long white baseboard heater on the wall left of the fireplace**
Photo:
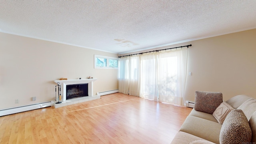
[[[45,108],[48,106],[52,106],[54,103],[54,101],[49,101],[49,102],[41,102],[41,103],[36,103],[36,104],[29,104],[29,105],[24,105],[24,106],[17,106],[17,107],[13,107],[13,108],[6,108],[6,109],[2,109],[0,110],[0,116],[6,116],[9,114],[15,114],[15,113],[19,113],[19,112],[25,112],[28,110],[35,110],[38,108]]]

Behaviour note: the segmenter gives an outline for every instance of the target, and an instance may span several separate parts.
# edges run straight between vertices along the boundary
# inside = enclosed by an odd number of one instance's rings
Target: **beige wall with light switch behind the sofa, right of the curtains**
[[[196,90],[222,92],[224,100],[238,94],[256,98],[256,29],[155,49],[188,44],[184,101],[194,101]]]

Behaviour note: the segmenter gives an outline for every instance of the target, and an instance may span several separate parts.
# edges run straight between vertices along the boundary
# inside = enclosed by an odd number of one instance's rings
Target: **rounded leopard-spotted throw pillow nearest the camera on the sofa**
[[[220,129],[220,144],[249,144],[252,130],[244,112],[231,110]]]

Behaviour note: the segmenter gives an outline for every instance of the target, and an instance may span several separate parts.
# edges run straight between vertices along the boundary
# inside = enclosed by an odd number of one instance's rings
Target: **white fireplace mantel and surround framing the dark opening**
[[[62,95],[62,102],[66,101],[66,85],[69,84],[88,84],[88,96],[92,96],[93,94],[93,82],[97,80],[94,79],[79,79],[79,80],[54,80],[56,84],[59,82],[61,86],[60,94]]]

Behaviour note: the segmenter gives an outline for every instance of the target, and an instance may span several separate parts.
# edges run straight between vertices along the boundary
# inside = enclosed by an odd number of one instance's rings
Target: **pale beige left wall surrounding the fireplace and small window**
[[[118,89],[118,70],[94,69],[94,54],[118,56],[0,32],[0,109],[54,100],[53,81],[62,77],[97,78],[94,95]]]

